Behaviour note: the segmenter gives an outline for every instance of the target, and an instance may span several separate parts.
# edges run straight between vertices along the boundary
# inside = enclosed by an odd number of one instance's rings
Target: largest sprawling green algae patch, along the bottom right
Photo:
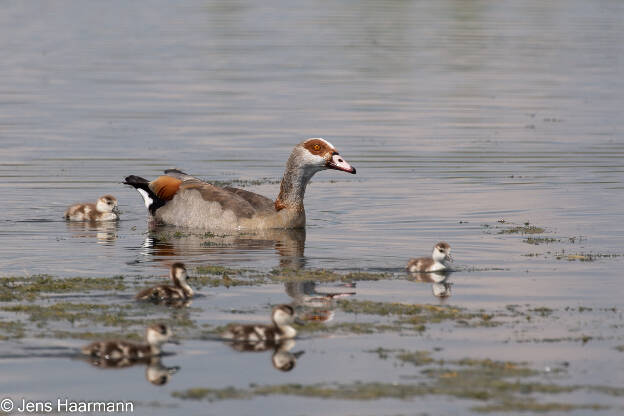
[[[191,388],[176,391],[172,396],[185,400],[240,400],[265,396],[297,396],[336,400],[409,400],[434,395],[476,401],[472,410],[491,412],[548,412],[575,409],[608,409],[594,404],[554,402],[550,396],[579,390],[617,396],[619,388],[599,385],[561,385],[536,381],[540,372],[526,363],[464,358],[434,359],[428,351],[389,350],[367,351],[387,360],[394,356],[420,370],[412,383],[363,382],[255,385],[248,388]],[[413,378],[413,377],[412,377]],[[542,399],[544,401],[538,400]]]

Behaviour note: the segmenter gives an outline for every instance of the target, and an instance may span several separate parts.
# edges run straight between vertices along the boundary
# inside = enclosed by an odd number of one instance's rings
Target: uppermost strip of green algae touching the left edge
[[[35,300],[49,293],[121,291],[127,285],[123,276],[54,278],[48,275],[0,278],[0,301]]]

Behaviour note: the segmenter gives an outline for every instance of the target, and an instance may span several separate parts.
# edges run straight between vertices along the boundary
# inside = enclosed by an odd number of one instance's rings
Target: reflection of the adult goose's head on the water
[[[334,318],[336,299],[354,296],[355,284],[337,287],[334,291],[317,291],[316,282],[286,282],[286,294],[293,299],[297,318],[306,322],[329,322]]]

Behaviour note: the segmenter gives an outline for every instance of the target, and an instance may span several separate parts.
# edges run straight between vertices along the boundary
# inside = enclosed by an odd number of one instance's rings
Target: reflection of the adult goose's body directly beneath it
[[[305,266],[305,229],[263,230],[221,234],[172,226],[150,226],[141,254],[154,257],[180,257],[202,254],[227,257],[232,253],[275,250],[279,266],[299,270]]]

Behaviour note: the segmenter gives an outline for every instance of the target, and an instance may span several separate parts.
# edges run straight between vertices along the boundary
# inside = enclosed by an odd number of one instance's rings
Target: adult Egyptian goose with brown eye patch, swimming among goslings
[[[325,169],[355,173],[331,143],[308,139],[290,154],[275,201],[243,189],[212,185],[176,169],[166,170],[151,182],[131,175],[124,183],[136,188],[159,223],[203,229],[303,228],[306,185]]]

